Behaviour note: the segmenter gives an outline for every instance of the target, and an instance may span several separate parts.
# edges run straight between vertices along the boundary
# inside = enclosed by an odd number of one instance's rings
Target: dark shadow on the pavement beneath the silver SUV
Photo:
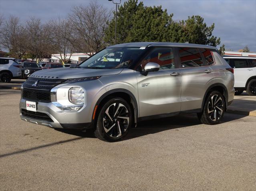
[[[228,114],[225,113],[224,118],[222,119],[221,123],[237,120],[243,118],[244,115],[236,115],[236,114]],[[196,114],[183,114],[168,118],[161,118],[155,120],[147,120],[143,122],[139,122],[137,127],[132,128],[129,134],[123,138],[122,140],[129,140],[133,138],[137,138],[140,136],[145,136],[148,134],[155,134],[158,132],[171,130],[171,129],[178,129],[184,128],[194,125],[202,124]],[[55,129],[59,132],[72,134],[75,136],[80,136],[83,138],[95,138],[93,134],[93,130],[87,130],[86,132],[82,132],[80,130],[71,130],[71,129]]]

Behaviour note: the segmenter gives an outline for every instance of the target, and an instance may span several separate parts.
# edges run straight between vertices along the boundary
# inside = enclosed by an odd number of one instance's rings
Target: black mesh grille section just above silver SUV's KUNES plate
[[[22,98],[30,101],[49,103],[50,91],[23,88]]]

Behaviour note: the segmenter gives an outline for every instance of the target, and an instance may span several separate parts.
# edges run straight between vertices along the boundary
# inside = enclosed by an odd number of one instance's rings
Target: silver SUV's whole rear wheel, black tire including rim
[[[226,104],[225,104],[224,96],[219,91],[212,91],[207,96],[204,102],[203,112],[198,113],[198,119],[203,124],[208,124],[208,125],[218,124],[224,116],[225,108],[226,108]]]

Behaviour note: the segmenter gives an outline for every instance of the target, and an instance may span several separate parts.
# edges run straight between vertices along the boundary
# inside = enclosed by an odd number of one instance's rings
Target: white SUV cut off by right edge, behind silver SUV
[[[256,95],[256,57],[224,56],[228,64],[234,68],[235,95],[246,90],[250,96]]]

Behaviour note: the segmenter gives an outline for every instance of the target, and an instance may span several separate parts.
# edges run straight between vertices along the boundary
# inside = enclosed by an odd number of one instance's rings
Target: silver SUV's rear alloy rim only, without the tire
[[[213,95],[208,102],[208,116],[212,121],[217,121],[222,116],[224,103],[219,95]]]

